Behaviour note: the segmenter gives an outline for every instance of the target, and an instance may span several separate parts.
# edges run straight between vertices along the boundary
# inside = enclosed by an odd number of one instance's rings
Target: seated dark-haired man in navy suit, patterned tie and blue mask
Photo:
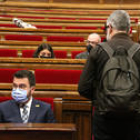
[[[0,103],[1,123],[53,123],[49,104],[35,100],[35,76],[31,71],[20,70],[13,76],[13,100]]]

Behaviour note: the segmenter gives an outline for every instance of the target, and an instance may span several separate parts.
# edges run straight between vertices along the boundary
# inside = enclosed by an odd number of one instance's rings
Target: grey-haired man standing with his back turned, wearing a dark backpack
[[[136,140],[140,120],[140,47],[124,10],[107,19],[107,42],[91,50],[78,91],[93,101],[94,140]]]

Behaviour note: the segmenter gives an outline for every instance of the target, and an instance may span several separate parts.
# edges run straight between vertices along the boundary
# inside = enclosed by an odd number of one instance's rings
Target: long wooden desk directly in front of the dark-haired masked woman
[[[86,60],[81,59],[38,59],[38,58],[0,58],[0,68],[21,69],[69,69],[82,70]]]

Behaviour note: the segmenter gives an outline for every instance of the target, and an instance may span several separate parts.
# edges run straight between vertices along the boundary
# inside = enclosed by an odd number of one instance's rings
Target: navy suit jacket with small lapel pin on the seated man
[[[0,103],[1,123],[22,123],[19,105],[14,100]],[[29,123],[55,122],[51,106],[45,102],[33,99],[31,104]]]

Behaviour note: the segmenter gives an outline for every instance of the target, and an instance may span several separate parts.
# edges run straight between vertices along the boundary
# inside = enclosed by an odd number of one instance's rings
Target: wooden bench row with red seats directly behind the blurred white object
[[[98,15],[99,16],[99,15]],[[0,15],[0,27],[10,27],[10,28],[15,28],[16,25],[12,23],[13,16],[8,17],[8,15]],[[22,16],[24,17],[24,16]],[[27,22],[29,24],[32,24],[36,26],[37,28],[40,29],[104,29],[104,25],[106,23],[107,17],[102,18],[102,17],[83,17],[79,19],[72,19],[68,17],[50,17],[50,18],[45,18],[45,19],[38,19],[36,17],[31,18],[31,16],[25,16],[26,18],[20,18],[16,17],[19,19],[22,19],[24,22]],[[135,26],[138,24],[139,18],[131,18],[131,26]]]

